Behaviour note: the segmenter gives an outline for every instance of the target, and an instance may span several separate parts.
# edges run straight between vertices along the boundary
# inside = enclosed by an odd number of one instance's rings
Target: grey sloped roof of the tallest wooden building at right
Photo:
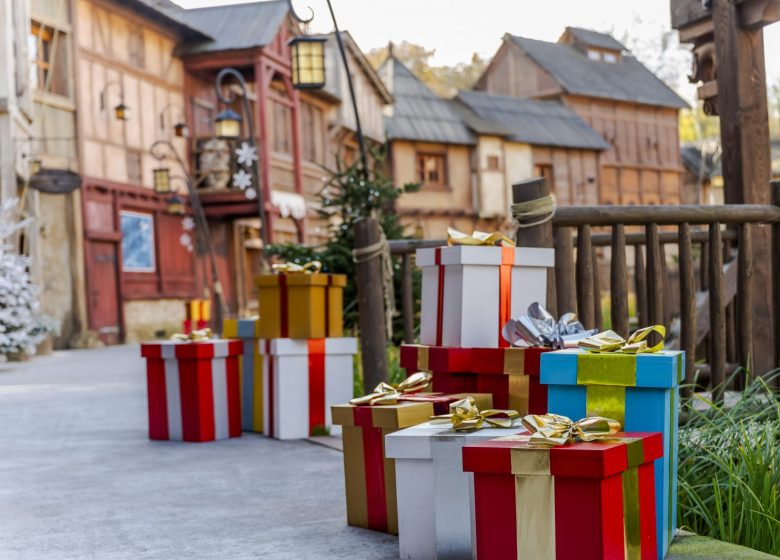
[[[624,53],[617,62],[590,60],[572,45],[506,35],[544,68],[570,94],[629,101],[681,109],[688,104],[650,72]]]

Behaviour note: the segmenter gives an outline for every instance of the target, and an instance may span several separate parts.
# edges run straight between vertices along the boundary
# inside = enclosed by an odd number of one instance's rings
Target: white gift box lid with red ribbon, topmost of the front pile
[[[455,247],[434,247],[417,249],[417,266],[434,266],[437,264],[470,264],[477,266],[499,266],[503,252],[513,250],[515,253],[513,266],[552,267],[555,265],[555,251],[542,247],[485,247],[459,245]],[[437,258],[438,253],[438,258]]]

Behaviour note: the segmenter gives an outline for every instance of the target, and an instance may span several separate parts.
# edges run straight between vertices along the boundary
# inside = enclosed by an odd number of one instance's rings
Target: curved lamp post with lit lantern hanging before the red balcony
[[[223,83],[226,78],[234,78],[238,85],[241,86],[241,103],[244,108],[244,118],[247,123],[248,138],[247,143],[257,153],[257,144],[255,143],[255,126],[254,118],[252,117],[252,108],[249,106],[249,97],[247,95],[246,81],[241,72],[235,68],[223,68],[217,74],[217,79],[214,83],[214,89],[217,93],[217,99],[225,105],[225,109],[217,115],[214,121],[215,131],[217,136],[226,140],[238,140],[241,137],[241,115],[230,109],[230,104],[235,102],[236,94],[232,91],[228,91],[225,95]],[[257,170],[258,158],[252,160],[252,175],[257,182],[257,212],[260,217],[260,239],[263,242],[263,256],[260,260],[263,269],[268,268],[268,256],[266,250],[268,247],[268,221],[266,220],[266,208],[265,208],[265,187],[260,183],[260,174]]]

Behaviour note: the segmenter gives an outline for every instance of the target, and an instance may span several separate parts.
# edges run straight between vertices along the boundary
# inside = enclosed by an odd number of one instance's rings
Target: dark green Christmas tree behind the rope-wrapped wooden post
[[[380,154],[375,154],[381,158]],[[394,211],[394,203],[404,192],[415,191],[417,184],[407,184],[396,188],[391,179],[386,178],[380,166],[369,171],[363,178],[359,163],[346,168],[331,171],[325,186],[317,195],[319,208],[317,213],[328,224],[330,239],[323,245],[305,247],[291,243],[271,245],[268,254],[282,261],[303,264],[318,260],[323,272],[347,275],[344,290],[344,323],[347,330],[357,325],[357,288],[355,284],[355,263],[352,249],[355,246],[354,224],[360,218],[374,217],[385,232],[387,239],[404,238],[404,227]],[[394,263],[393,283],[396,293],[401,288],[401,267]],[[419,291],[419,290],[418,290]],[[396,298],[400,306],[400,298]],[[400,321],[400,311],[395,313],[396,323]],[[394,325],[394,332],[400,335],[400,324]]]

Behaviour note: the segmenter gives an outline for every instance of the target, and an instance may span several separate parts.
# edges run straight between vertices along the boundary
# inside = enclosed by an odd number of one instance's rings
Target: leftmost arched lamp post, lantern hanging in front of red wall
[[[149,153],[157,161],[162,162],[166,155],[173,155],[173,158],[179,164],[183,176],[171,176],[170,171],[166,167],[159,167],[154,170],[155,179],[155,192],[160,194],[170,194],[171,180],[179,179],[187,186],[187,194],[190,197],[190,205],[192,206],[192,212],[195,218],[195,227],[200,233],[201,239],[206,249],[206,253],[209,258],[209,268],[211,273],[211,282],[214,286],[214,318],[212,322],[212,328],[214,332],[222,332],[222,283],[219,281],[219,274],[217,272],[217,258],[214,254],[214,245],[211,241],[211,232],[209,231],[209,225],[206,221],[206,213],[203,211],[203,205],[200,202],[200,196],[195,190],[195,185],[192,182],[192,176],[187,172],[187,167],[184,165],[184,161],[179,156],[179,153],[173,147],[168,140],[158,140],[152,144],[149,148]],[[158,182],[159,181],[159,182]],[[170,198],[166,199],[166,202],[171,204]]]

